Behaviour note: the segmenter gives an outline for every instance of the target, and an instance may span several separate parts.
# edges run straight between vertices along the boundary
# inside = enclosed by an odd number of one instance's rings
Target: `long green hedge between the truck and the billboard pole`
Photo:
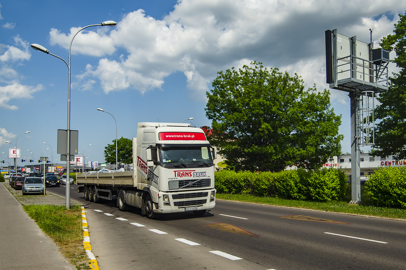
[[[345,196],[346,175],[337,169],[262,172],[216,171],[218,193],[251,194],[282,199],[335,201]]]

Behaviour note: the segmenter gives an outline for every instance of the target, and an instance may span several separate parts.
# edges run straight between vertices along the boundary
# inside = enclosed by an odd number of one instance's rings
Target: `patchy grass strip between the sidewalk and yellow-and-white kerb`
[[[82,209],[80,205],[23,205],[38,226],[60,247],[60,251],[76,269],[91,269],[83,249]]]

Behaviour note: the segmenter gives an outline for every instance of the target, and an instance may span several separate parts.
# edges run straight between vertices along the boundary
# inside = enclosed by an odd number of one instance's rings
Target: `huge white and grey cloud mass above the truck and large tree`
[[[76,52],[101,56],[123,51],[119,59],[103,58],[79,76],[82,89],[99,79],[105,93],[160,89],[165,78],[184,73],[192,96],[205,97],[210,81],[220,70],[249,64],[279,67],[301,75],[308,86],[328,88],[325,79],[324,31],[369,42],[374,27],[375,47],[390,34],[403,13],[403,0],[182,0],[162,20],[137,10],[127,13],[107,35],[106,28],[78,34]],[[395,15],[392,20],[387,14]],[[67,47],[70,34],[52,29],[51,44]],[[76,41],[78,39],[78,41]],[[107,45],[102,44],[107,41]],[[72,48],[73,49],[73,48]],[[246,62],[244,62],[246,60]],[[249,61],[248,61],[249,60]],[[90,81],[89,81],[90,80]],[[332,102],[348,104],[346,94],[331,91]]]

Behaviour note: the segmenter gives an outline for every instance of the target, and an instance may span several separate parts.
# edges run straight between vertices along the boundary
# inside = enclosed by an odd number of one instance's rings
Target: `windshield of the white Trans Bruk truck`
[[[213,165],[209,147],[201,146],[172,146],[159,147],[159,158],[162,165],[192,165],[201,163],[205,166]]]

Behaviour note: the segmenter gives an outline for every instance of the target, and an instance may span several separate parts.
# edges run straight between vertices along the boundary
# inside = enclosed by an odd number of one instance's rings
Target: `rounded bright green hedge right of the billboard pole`
[[[406,167],[378,169],[365,182],[367,202],[373,206],[406,208]]]

